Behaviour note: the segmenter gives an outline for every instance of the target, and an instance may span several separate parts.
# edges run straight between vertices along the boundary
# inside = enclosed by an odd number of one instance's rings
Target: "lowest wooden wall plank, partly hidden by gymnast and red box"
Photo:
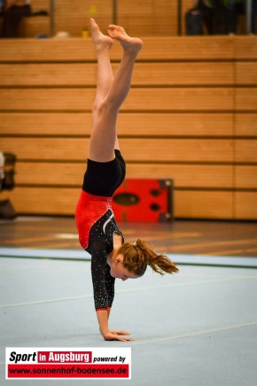
[[[12,200],[20,214],[74,216],[80,188],[16,187],[11,193],[4,192],[3,199]],[[233,193],[207,191],[175,191],[175,217],[185,218],[232,218]],[[255,194],[256,197],[256,194]],[[61,199],[60,199],[61,198]],[[210,201],[212,205],[210,206]]]

